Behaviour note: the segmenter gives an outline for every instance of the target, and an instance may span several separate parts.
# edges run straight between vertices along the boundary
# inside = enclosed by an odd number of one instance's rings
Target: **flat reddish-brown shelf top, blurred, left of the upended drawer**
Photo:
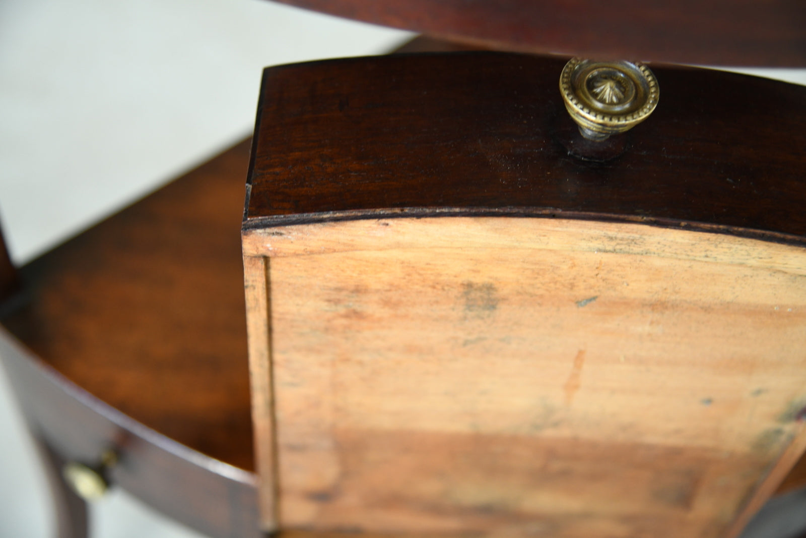
[[[20,269],[2,324],[132,419],[253,469],[243,142]]]

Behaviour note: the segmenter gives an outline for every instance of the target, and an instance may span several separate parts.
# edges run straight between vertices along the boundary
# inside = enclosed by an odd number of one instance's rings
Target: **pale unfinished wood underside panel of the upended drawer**
[[[801,248],[442,218],[244,249],[272,256],[282,528],[725,536],[802,449]]]

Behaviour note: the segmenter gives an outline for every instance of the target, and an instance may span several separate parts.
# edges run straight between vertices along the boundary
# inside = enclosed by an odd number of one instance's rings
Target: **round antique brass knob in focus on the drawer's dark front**
[[[646,65],[573,58],[559,77],[571,118],[588,140],[605,140],[645,120],[658,105],[658,81]]]

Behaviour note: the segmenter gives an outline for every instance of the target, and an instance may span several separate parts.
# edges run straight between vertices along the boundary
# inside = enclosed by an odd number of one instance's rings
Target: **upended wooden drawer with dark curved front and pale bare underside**
[[[800,457],[806,190],[776,132],[806,145],[806,90],[657,69],[656,114],[591,160],[562,66],[266,70],[242,234],[264,528],[735,536]]]

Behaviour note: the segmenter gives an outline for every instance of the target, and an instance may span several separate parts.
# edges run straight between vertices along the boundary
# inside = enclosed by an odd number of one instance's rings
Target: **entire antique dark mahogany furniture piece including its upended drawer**
[[[532,52],[806,50],[783,0],[305,3]],[[803,486],[803,463],[779,482],[804,444],[806,90],[653,67],[654,115],[596,143],[565,60],[269,69],[245,215],[246,141],[21,268],[19,291],[2,265],[0,356],[60,536],[86,532],[68,462],[210,536],[733,536]]]

